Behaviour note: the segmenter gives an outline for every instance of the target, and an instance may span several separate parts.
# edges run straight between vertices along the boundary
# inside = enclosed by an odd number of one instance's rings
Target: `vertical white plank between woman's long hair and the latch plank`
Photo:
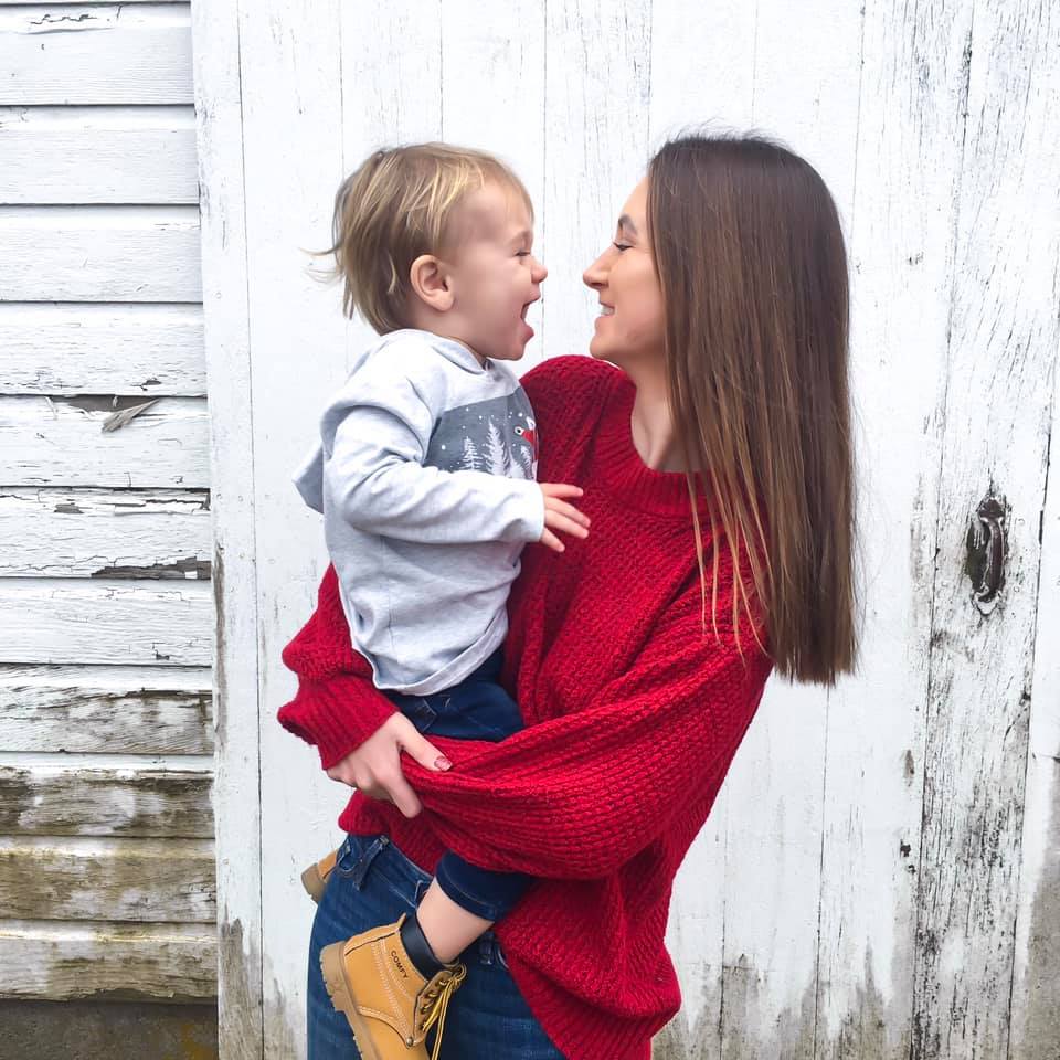
[[[964,0],[930,11],[866,7],[849,212],[862,658],[828,703],[819,1060],[910,1056],[937,406],[967,81],[961,51],[971,22]]]

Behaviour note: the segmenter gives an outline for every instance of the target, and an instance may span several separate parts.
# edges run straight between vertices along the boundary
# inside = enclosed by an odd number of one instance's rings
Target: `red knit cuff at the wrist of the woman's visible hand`
[[[395,712],[394,704],[361,677],[299,681],[295,698],[280,707],[279,723],[311,743],[329,770],[356,751]]]

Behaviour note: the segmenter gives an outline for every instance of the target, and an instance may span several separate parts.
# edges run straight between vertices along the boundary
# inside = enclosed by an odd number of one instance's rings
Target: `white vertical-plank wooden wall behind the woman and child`
[[[222,661],[239,669],[219,729],[224,1054],[301,1054],[297,875],[335,844],[346,796],[274,720],[293,688],[279,651],[325,562],[288,475],[369,336],[305,253],[327,245],[339,180],[396,141],[510,160],[551,272],[529,367],[585,349],[582,269],[654,147],[713,119],[806,155],[844,219],[865,657],[831,693],[771,685],[679,877],[685,1009],[657,1054],[1056,1060],[1051,0],[198,10]],[[966,536],[987,495],[1008,558],[981,610]]]

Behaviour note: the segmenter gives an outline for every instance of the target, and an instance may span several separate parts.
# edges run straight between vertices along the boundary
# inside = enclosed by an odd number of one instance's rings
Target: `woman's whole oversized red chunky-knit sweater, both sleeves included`
[[[640,460],[629,379],[563,357],[523,385],[540,435],[540,480],[582,486],[580,506],[592,519],[589,538],[568,538],[563,554],[523,552],[504,680],[527,729],[496,744],[433,739],[454,767],[432,773],[403,760],[424,805],[418,817],[356,793],[339,825],[389,833],[426,871],[448,847],[486,868],[538,877],[496,929],[531,1010],[571,1060],[645,1060],[651,1036],[680,1007],[664,946],[674,876],[771,662],[745,623],[743,657],[736,650],[727,547],[720,639],[709,613],[703,633],[686,480]],[[701,510],[707,536],[706,501]],[[709,577],[709,540],[704,550]],[[765,642],[761,628],[760,636]],[[330,568],[284,661],[299,680],[279,720],[316,744],[325,768],[393,712],[350,647]]]

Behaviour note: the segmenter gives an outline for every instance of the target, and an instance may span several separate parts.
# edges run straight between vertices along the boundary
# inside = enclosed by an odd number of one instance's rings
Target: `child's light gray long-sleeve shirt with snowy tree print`
[[[534,427],[506,364],[414,329],[369,347],[325,411],[295,485],[324,513],[379,688],[432,695],[504,642],[522,545],[544,529]]]

